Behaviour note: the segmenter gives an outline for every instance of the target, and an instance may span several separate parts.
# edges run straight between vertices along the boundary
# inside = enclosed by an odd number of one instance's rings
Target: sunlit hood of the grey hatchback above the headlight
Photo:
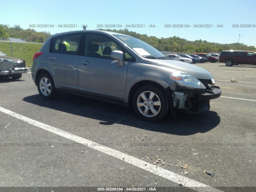
[[[156,60],[149,59],[149,61],[153,65],[167,67],[167,68],[175,69],[178,71],[186,72],[197,79],[213,79],[212,74],[208,70],[205,70],[203,68],[200,68],[198,66],[188,64],[185,62],[175,61],[175,60],[160,60],[160,59],[156,59]]]

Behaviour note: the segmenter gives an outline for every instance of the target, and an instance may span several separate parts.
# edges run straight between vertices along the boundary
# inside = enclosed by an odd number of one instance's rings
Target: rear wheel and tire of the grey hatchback
[[[56,95],[56,90],[52,77],[46,73],[43,73],[39,76],[37,81],[37,89],[40,96],[42,96],[42,98],[46,100],[50,100]]]

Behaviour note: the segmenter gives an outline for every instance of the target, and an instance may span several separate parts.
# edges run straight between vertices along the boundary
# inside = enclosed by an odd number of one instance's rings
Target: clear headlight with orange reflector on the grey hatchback
[[[169,78],[176,81],[180,86],[188,89],[206,89],[204,84],[202,84],[202,82],[200,82],[197,78],[182,71],[172,72]]]

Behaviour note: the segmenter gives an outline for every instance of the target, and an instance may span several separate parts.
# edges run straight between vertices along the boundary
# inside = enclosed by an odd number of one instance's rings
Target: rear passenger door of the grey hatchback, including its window
[[[52,39],[47,59],[56,88],[77,91],[81,38],[82,34],[70,34]]]

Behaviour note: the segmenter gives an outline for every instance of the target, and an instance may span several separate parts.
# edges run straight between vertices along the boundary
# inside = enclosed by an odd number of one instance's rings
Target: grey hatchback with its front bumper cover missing
[[[207,70],[171,60],[134,37],[99,30],[50,36],[34,54],[32,78],[44,99],[66,92],[114,102],[149,122],[168,112],[199,114],[221,94]]]

